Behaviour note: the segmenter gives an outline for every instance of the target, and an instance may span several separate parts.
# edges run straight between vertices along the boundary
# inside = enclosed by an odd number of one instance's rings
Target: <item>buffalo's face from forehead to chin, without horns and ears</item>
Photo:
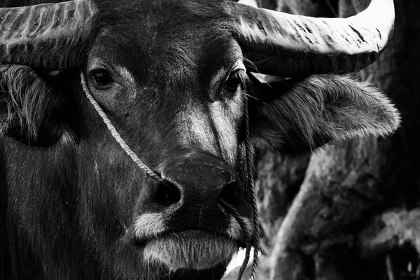
[[[133,18],[121,13],[126,18],[115,19],[118,24],[99,29],[84,72],[90,93],[123,139],[164,180],[148,178],[127,158],[120,165],[134,169],[132,176],[106,179],[116,186],[109,192],[124,197],[118,200],[127,229],[120,232],[121,246],[132,246],[147,262],[173,270],[209,269],[227,264],[246,245],[241,226],[223,202],[235,207],[247,230],[253,230],[246,174],[239,165],[246,160],[248,76],[227,24],[214,22],[223,10],[204,6],[205,13],[197,13],[172,5],[179,16],[171,21],[170,10],[154,4],[139,8]],[[142,9],[148,10],[147,18],[140,16],[146,13]],[[80,106],[92,114],[90,104]],[[92,119],[100,120],[95,113]],[[92,130],[91,121],[85,123]],[[109,134],[104,125],[96,130]],[[123,154],[109,139],[100,149]],[[115,161],[114,153],[101,157],[99,162]],[[125,187],[126,181],[134,186]]]

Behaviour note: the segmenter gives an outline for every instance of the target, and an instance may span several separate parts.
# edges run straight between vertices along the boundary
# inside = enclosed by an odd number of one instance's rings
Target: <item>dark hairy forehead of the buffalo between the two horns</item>
[[[116,3],[116,4],[115,4]],[[94,51],[127,67],[141,86],[209,85],[209,76],[234,64],[235,25],[221,1],[100,1]]]

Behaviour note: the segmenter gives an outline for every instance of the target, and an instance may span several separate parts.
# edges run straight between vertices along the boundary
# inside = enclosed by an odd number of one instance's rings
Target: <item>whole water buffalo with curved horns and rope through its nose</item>
[[[247,143],[298,155],[398,127],[383,94],[337,75],[392,29],[392,0],[347,19],[222,0],[0,8],[2,275],[221,279],[256,232]]]

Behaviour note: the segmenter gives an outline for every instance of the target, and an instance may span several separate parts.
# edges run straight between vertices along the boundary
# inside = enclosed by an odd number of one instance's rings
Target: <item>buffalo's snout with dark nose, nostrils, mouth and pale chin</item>
[[[144,186],[134,215],[134,239],[146,257],[173,268],[228,262],[252,228],[237,170],[213,155],[187,153],[169,158],[158,172],[165,182]],[[223,244],[224,251],[214,244]]]

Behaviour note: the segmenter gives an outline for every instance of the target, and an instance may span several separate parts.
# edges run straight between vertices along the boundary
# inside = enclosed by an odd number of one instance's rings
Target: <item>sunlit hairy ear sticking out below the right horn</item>
[[[295,155],[330,141],[384,136],[400,116],[384,94],[346,76],[316,75],[269,82],[251,77],[251,135],[280,153]]]

